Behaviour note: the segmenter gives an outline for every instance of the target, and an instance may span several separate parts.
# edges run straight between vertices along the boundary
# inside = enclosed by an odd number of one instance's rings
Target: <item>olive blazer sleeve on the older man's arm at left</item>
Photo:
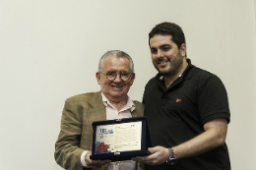
[[[79,115],[72,99],[67,99],[61,118],[61,130],[55,143],[54,157],[56,162],[67,170],[82,170],[80,148],[83,128],[82,116]]]

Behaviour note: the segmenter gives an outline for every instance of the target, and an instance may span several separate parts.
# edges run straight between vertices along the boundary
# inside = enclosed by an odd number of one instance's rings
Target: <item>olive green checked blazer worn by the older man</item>
[[[132,117],[143,116],[141,102],[133,102],[136,108],[131,113]],[[92,123],[105,119],[105,106],[102,102],[101,91],[68,98],[62,112],[61,130],[55,143],[56,162],[67,170],[83,170],[80,158],[83,151],[92,149]],[[137,163],[137,170],[141,169],[143,165]],[[107,164],[97,170],[107,170]]]

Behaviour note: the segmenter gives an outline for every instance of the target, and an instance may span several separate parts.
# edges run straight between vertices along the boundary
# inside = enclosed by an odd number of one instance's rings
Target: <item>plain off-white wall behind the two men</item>
[[[232,169],[256,169],[254,2],[0,0],[0,169],[62,169],[53,152],[64,100],[99,89],[97,62],[107,50],[133,57],[129,94],[141,100],[157,73],[148,33],[165,21],[183,28],[192,63],[224,82]]]

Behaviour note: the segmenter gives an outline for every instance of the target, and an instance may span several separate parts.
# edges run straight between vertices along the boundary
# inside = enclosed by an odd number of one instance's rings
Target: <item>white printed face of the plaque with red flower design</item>
[[[141,150],[142,122],[96,127],[95,154]]]

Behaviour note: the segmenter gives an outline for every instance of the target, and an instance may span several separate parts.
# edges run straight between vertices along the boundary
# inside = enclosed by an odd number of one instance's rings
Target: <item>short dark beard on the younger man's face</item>
[[[169,65],[163,69],[158,66],[161,62],[168,62]],[[180,53],[177,54],[175,58],[171,61],[169,58],[161,57],[158,59],[157,64],[154,64],[155,68],[160,73],[160,76],[174,76],[179,71],[180,67],[183,64],[183,58]]]

